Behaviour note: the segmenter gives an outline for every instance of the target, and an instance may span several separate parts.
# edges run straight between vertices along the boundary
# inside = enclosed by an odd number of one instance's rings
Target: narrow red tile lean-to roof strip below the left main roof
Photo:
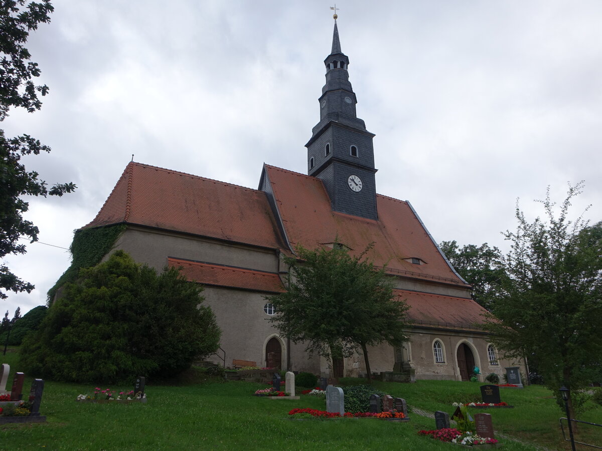
[[[203,285],[238,288],[264,293],[281,293],[284,291],[280,277],[275,272],[210,265],[208,263],[174,259],[172,257],[167,259],[167,265],[170,268],[181,267],[181,273],[184,277]]]

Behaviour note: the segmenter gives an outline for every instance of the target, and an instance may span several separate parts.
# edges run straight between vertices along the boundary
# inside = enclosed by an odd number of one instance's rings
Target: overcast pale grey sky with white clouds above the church
[[[257,188],[264,162],[306,172],[319,119],[330,2],[56,0],[28,49],[50,87],[42,110],[0,127],[52,147],[25,158],[74,194],[32,198],[40,242],[68,248],[132,158]],[[437,242],[507,249],[517,198],[541,215],[549,185],[585,180],[573,216],[602,219],[602,2],[425,0],[337,3],[358,117],[376,133],[377,191],[408,200]],[[31,244],[5,263],[36,285],[70,263]]]

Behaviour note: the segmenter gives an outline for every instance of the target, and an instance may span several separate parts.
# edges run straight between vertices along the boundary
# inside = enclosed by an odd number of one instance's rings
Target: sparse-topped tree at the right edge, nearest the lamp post
[[[511,244],[507,277],[493,311],[501,323],[489,322],[506,355],[535,355],[547,388],[557,397],[561,385],[571,390],[573,414],[581,402],[577,390],[590,382],[586,369],[602,355],[602,222],[591,227],[582,217],[568,219],[581,188],[569,185],[557,215],[548,188],[539,201],[545,219],[533,222],[517,203],[517,231],[504,233]]]

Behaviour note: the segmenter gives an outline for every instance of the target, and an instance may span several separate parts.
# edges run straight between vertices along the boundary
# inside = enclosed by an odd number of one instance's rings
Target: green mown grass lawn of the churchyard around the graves
[[[2,358],[16,367],[16,355]],[[198,375],[197,375],[198,376]],[[325,410],[325,402],[311,396],[300,400],[270,400],[250,396],[265,385],[241,381],[181,379],[180,385],[147,384],[146,404],[78,403],[80,393],[94,387],[46,382],[40,411],[48,422],[39,425],[0,426],[0,449],[6,450],[138,450],[138,449],[256,449],[256,450],[449,450],[447,443],[419,437],[433,429],[432,419],[410,414],[411,422],[374,419],[291,420],[294,407]],[[199,382],[196,378],[196,382]],[[358,383],[358,379],[343,379]],[[26,380],[28,388],[31,379]],[[132,381],[133,385],[133,381]],[[416,384],[375,382],[393,396],[424,410],[452,412],[451,402],[471,400],[479,384],[420,381]],[[111,387],[130,389],[132,387]],[[502,400],[515,409],[489,410],[496,431],[531,440],[551,449],[569,449],[559,438],[560,410],[541,387],[502,390]],[[476,413],[473,411],[472,413]],[[588,413],[602,417],[602,408]],[[584,416],[585,419],[585,416]],[[600,428],[602,429],[602,428]],[[507,450],[536,447],[503,440]],[[586,449],[586,448],[583,448]]]

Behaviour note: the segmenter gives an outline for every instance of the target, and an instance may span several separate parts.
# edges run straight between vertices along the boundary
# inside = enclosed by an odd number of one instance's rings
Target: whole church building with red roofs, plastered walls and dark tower
[[[324,60],[320,118],[307,147],[307,173],[264,164],[257,189],[130,162],[101,210],[84,229],[125,225],[113,250],[161,271],[182,269],[202,284],[205,304],[222,328],[216,363],[255,361],[318,376],[365,374],[360,355],[335,362],[309,357],[267,321],[276,312],[264,296],[286,289],[282,256],[296,245],[351,253],[374,243],[368,258],[395,278],[412,327],[400,349],[369,349],[373,372],[415,379],[468,380],[473,367],[502,374],[517,362],[500,360],[480,330],[486,311],[450,265],[409,201],[377,194],[374,134],[356,115],[349,58],[335,17],[332,50]],[[105,256],[105,258],[107,258]],[[523,369],[524,371],[524,369]],[[483,376],[480,376],[480,380]]]

